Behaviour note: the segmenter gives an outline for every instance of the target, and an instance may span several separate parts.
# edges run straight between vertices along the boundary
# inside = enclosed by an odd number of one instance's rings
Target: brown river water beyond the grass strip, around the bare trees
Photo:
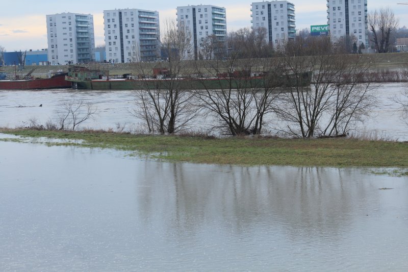
[[[381,84],[376,90],[379,106],[374,109],[371,118],[358,128],[358,134],[407,141],[408,126],[400,119],[398,105],[391,101],[405,88],[405,83]],[[29,119],[45,124],[49,119],[56,120],[63,102],[84,100],[97,107],[97,115],[82,123],[82,128],[115,130],[120,123],[125,125],[126,131],[140,130],[141,120],[131,114],[135,108],[134,99],[130,90],[0,90],[0,127],[29,126]],[[42,107],[39,107],[40,104]],[[206,124],[198,123],[197,127],[206,129]]]

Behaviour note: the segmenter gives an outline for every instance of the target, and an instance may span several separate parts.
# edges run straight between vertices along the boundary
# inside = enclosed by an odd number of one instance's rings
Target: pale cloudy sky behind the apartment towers
[[[364,1],[364,0],[363,0]],[[404,0],[368,0],[368,11],[390,7],[399,18],[399,25],[408,26],[408,5],[397,5]],[[405,0],[408,2],[408,0]],[[326,24],[326,0],[292,0],[295,5],[296,29],[310,28],[312,24]],[[69,3],[69,5],[67,5]],[[221,4],[222,3],[222,4]],[[0,9],[0,45],[6,51],[39,50],[47,48],[45,15],[62,12],[92,14],[95,45],[104,44],[103,11],[112,9],[145,9],[159,11],[160,21],[176,18],[176,7],[187,5],[214,5],[226,8],[227,31],[250,27],[252,0],[19,0],[2,1]]]

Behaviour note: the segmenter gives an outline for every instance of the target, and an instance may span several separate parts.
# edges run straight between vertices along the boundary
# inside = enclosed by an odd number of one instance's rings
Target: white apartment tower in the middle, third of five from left
[[[202,43],[210,35],[215,35],[218,41],[226,40],[225,8],[212,5],[197,5],[177,7],[177,27],[185,28],[190,34],[189,56],[198,59],[203,49]]]

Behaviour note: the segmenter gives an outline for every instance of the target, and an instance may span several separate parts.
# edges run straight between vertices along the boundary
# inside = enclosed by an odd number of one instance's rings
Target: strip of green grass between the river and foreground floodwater
[[[209,139],[149,136],[109,132],[0,130],[24,137],[48,137],[83,142],[80,145],[151,154],[167,161],[235,165],[333,167],[408,167],[408,143],[357,139]]]

